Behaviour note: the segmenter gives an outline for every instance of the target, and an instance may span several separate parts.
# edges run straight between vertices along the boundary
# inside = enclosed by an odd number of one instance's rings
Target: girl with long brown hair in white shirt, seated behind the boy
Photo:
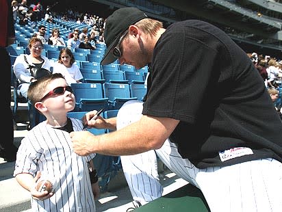
[[[61,49],[59,58],[53,67],[53,73],[61,73],[68,85],[79,83],[82,76],[79,67],[75,64],[75,57],[70,49]]]

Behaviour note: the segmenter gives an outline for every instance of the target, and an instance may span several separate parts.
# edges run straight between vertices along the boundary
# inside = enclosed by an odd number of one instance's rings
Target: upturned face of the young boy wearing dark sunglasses
[[[49,114],[61,116],[75,108],[75,95],[67,86],[66,80],[62,78],[55,79],[47,85],[46,92],[42,95],[47,97],[42,100],[42,103],[47,107]]]

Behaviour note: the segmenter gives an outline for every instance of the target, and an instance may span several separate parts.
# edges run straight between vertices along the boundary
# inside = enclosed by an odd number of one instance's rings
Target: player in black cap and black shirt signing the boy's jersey
[[[196,20],[164,29],[136,8],[121,8],[107,18],[104,37],[101,64],[150,64],[148,91],[139,120],[129,120],[134,103],[123,106],[127,127],[87,114],[88,126],[118,131],[72,132],[77,154],[155,150],[201,189],[211,211],[281,210],[282,123],[255,66],[227,34]]]

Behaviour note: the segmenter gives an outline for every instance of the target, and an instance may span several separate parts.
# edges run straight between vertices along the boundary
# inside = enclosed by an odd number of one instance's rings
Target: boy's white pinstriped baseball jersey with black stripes
[[[74,131],[81,131],[81,120],[71,118]],[[32,211],[95,211],[94,196],[87,162],[94,154],[81,157],[73,152],[71,137],[66,131],[53,129],[41,122],[21,141],[16,156],[14,176],[54,176],[58,182],[55,194],[44,201],[31,198]]]

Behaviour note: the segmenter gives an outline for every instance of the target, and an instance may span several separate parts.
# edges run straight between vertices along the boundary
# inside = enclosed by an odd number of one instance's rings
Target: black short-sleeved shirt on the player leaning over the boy
[[[143,114],[180,120],[170,141],[196,167],[282,161],[282,122],[264,81],[223,31],[195,20],[170,25],[149,71]],[[227,156],[238,155],[220,159],[230,148]]]

